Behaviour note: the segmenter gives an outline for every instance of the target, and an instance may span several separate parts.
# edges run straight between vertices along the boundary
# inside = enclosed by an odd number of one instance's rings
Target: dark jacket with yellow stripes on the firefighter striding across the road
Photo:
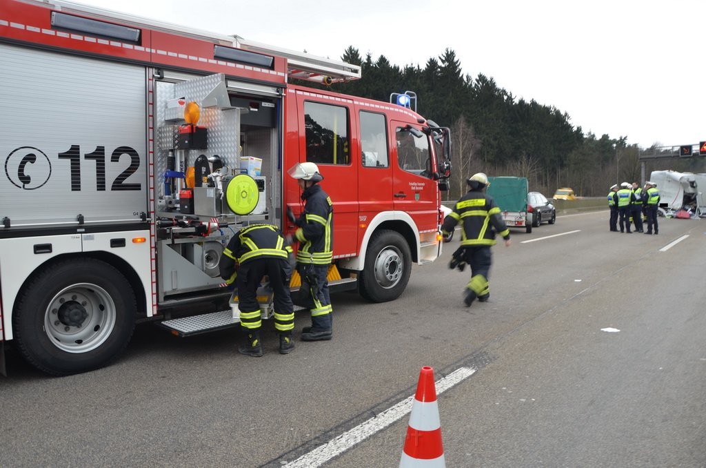
[[[472,190],[461,197],[444,218],[441,230],[450,233],[459,221],[462,221],[461,245],[495,245],[496,232],[505,239],[510,238],[500,208],[483,192]]]

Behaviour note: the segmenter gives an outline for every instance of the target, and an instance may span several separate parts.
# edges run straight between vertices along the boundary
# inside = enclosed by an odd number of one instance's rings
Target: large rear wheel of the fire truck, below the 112
[[[136,299],[120,271],[98,259],[45,267],[20,292],[16,344],[36,368],[70,375],[100,368],[125,349]]]

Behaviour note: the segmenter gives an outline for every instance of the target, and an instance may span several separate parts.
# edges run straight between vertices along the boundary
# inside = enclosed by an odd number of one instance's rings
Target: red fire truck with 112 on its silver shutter
[[[0,63],[0,353],[66,375],[108,363],[136,322],[233,327],[220,255],[250,223],[294,231],[297,162],[334,202],[333,291],[393,300],[441,254],[448,129],[289,83],[359,66],[54,0],[0,0]]]

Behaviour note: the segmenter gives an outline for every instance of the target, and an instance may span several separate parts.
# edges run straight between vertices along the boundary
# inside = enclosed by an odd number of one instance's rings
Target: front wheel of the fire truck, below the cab
[[[400,233],[380,230],[373,234],[360,272],[361,296],[373,303],[400,297],[412,271],[412,254]]]

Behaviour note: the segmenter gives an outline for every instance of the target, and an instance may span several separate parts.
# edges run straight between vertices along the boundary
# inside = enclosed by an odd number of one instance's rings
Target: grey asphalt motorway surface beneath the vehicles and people
[[[286,466],[414,394],[431,365],[474,371],[438,397],[449,467],[705,467],[705,231],[610,233],[605,211],[513,230],[493,247],[491,300],[470,308],[469,272],[447,267],[457,235],[393,303],[334,295],[334,339],[287,356],[274,332],[250,358],[236,332],[152,324],[82,375],[49,378],[10,351],[0,466]],[[325,466],[396,467],[408,421]]]

